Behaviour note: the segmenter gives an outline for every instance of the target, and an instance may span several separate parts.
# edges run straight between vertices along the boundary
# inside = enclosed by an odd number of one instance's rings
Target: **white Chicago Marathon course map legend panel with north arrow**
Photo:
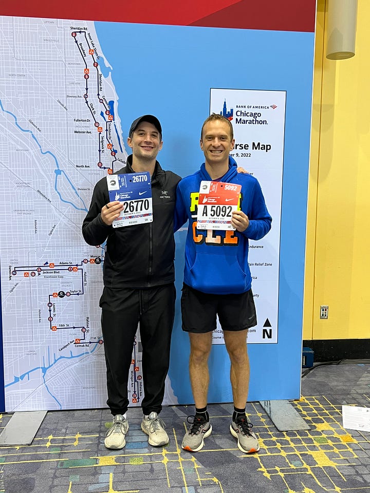
[[[230,155],[262,186],[272,216],[270,232],[249,241],[249,267],[257,325],[248,331],[249,344],[278,342],[280,222],[282,210],[285,91],[211,89],[210,113],[228,118],[235,145]],[[213,344],[224,344],[219,322]]]

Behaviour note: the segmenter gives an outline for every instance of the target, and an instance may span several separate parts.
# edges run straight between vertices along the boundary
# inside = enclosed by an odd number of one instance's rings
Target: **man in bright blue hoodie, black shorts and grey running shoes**
[[[224,331],[231,370],[234,412],[231,434],[243,452],[260,449],[245,408],[249,386],[247,353],[248,329],[257,324],[252,278],[248,264],[248,240],[263,238],[271,228],[265,199],[258,181],[237,173],[229,156],[234,148],[229,120],[215,113],[204,122],[200,147],[205,163],[194,175],[180,181],[176,193],[175,228],[189,220],[185,247],[184,285],[181,296],[182,330],[189,333],[189,371],[195,402],[195,416],[184,435],[182,448],[197,452],[212,432],[207,412],[209,385],[208,357],[216,315]],[[201,181],[220,181],[242,185],[238,210],[232,213],[228,231],[197,229],[197,207]]]

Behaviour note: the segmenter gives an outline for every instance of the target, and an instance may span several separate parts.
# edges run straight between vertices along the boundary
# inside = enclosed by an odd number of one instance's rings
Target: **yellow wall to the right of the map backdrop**
[[[325,58],[327,8],[318,0],[303,338],[369,338],[370,2],[358,0],[356,55],[342,61]]]

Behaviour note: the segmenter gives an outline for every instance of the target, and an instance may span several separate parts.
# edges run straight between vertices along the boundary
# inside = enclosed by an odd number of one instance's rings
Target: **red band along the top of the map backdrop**
[[[316,0],[127,0],[106,4],[101,0],[4,2],[0,15],[64,18],[85,21],[169,24],[180,26],[315,31]]]

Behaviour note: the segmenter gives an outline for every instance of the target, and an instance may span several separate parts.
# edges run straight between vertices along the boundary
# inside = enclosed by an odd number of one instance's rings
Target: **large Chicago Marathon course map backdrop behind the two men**
[[[234,158],[262,184],[273,217],[270,236],[250,249],[258,325],[249,337],[249,400],[299,397],[311,4],[306,20],[279,25],[266,15],[265,26],[255,11],[241,25],[237,14],[248,2],[225,2],[218,12],[206,3],[198,16],[192,10],[165,23],[139,20],[133,4],[121,7],[120,22],[55,18],[52,6],[33,7],[34,14],[28,5],[1,7],[3,410],[106,406],[99,309],[105,244],[90,247],[81,234],[94,185],[124,165],[128,128],[145,113],[162,124],[162,167],[194,173],[203,160],[201,124],[225,109],[241,146]],[[165,404],[192,402],[179,311],[185,230],[175,236],[178,300]],[[135,261],[135,252],[125,254]],[[210,357],[209,402],[232,401],[220,342]],[[128,390],[140,405],[139,333]]]

